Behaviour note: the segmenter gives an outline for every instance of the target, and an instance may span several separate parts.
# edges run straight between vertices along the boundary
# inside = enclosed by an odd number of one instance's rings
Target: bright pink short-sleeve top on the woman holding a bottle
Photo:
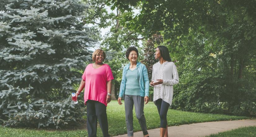
[[[95,69],[92,64],[85,68],[82,79],[85,80],[84,104],[87,100],[99,101],[107,106],[107,81],[114,79],[110,66],[103,64]]]

